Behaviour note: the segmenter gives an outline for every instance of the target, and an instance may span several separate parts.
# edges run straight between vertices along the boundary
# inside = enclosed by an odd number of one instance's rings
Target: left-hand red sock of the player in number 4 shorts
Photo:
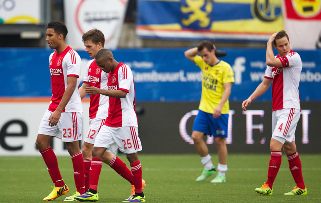
[[[277,172],[280,169],[282,162],[282,151],[271,151],[271,160],[269,164],[269,171],[267,173],[266,184],[272,189],[273,182],[276,178]]]

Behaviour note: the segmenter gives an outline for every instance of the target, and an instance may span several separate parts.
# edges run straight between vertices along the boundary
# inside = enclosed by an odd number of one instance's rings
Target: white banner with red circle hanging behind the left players
[[[105,35],[105,48],[116,49],[127,4],[128,0],[64,1],[68,45],[73,49],[85,49],[82,35],[97,28]]]

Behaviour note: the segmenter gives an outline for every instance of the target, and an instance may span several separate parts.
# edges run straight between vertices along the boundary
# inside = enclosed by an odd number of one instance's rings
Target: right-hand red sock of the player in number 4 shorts
[[[291,170],[294,181],[296,182],[296,186],[300,189],[305,189],[302,176],[302,164],[297,151],[293,154],[288,155],[287,160],[289,161],[289,168]]]

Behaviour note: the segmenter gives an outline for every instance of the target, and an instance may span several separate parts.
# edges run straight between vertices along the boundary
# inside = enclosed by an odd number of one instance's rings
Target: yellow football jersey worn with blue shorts
[[[233,69],[222,60],[214,66],[210,66],[199,55],[195,56],[194,61],[203,72],[202,96],[199,109],[207,113],[213,113],[224,93],[223,83],[234,82]],[[222,114],[228,114],[229,110],[229,101],[227,100],[222,108]]]

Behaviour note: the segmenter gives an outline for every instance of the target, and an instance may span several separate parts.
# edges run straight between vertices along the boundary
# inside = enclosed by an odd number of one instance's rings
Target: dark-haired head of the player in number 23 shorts
[[[68,33],[67,27],[63,22],[50,21],[46,31],[46,41],[51,49],[56,49],[62,42],[65,42]]]

